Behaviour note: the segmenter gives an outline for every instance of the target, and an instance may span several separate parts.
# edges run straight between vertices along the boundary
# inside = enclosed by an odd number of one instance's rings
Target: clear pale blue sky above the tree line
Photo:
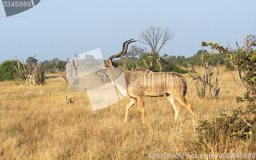
[[[136,38],[154,26],[175,32],[160,55],[190,57],[201,50],[202,41],[236,40],[256,34],[256,1],[46,1],[6,17],[0,7],[0,63],[26,60],[66,60],[100,48],[103,59],[117,54],[125,40]],[[134,42],[138,47],[150,47]],[[208,51],[210,49],[205,48]]]

